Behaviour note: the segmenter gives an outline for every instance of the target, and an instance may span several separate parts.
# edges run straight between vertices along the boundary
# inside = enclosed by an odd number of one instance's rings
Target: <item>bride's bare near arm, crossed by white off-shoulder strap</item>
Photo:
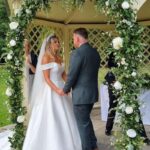
[[[42,59],[42,64],[47,64],[49,62],[49,59],[47,57],[43,57]],[[43,74],[44,74],[44,79],[46,81],[46,83],[52,88],[52,90],[54,90],[57,94],[62,95],[61,94],[61,89],[58,88],[53,82],[52,80],[50,80],[50,69],[47,70],[43,70]]]

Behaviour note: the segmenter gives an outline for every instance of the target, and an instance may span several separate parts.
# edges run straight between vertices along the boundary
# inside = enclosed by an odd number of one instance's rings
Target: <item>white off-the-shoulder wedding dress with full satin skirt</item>
[[[62,89],[64,64],[41,65],[41,70],[46,69],[50,69],[53,83]],[[39,102],[32,108],[23,150],[82,150],[71,96],[59,96],[46,82],[41,88],[36,93]]]

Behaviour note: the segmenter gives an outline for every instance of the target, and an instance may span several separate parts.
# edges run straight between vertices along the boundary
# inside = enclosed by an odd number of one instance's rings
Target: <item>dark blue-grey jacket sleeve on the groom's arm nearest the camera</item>
[[[71,88],[77,81],[81,65],[82,65],[81,56],[79,55],[79,53],[77,53],[77,51],[75,51],[74,53],[72,53],[70,58],[69,74],[65,86],[63,88],[63,91],[65,93],[70,92]]]

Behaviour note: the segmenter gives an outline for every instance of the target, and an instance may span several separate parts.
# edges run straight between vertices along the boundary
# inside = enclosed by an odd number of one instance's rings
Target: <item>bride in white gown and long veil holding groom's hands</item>
[[[66,80],[56,35],[42,44],[31,95],[31,117],[23,150],[81,150],[70,95],[61,95]]]

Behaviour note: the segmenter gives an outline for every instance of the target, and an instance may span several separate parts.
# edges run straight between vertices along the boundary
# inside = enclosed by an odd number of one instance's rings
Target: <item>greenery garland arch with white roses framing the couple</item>
[[[63,6],[66,11],[83,5],[85,0],[66,0]],[[11,18],[10,30],[7,34],[7,68],[10,73],[6,94],[9,96],[11,118],[15,124],[13,137],[10,138],[11,147],[21,150],[25,136],[26,108],[22,107],[23,92],[21,80],[23,78],[24,30],[35,17],[37,10],[50,8],[50,0],[24,0],[20,9],[15,10],[15,17]],[[145,82],[138,73],[138,64],[142,60],[143,44],[140,34],[143,28],[136,23],[136,13],[131,8],[132,0],[95,0],[98,11],[104,12],[115,21],[119,36],[113,39],[113,48],[109,52],[115,54],[118,68],[114,70],[117,78],[114,84],[116,94],[119,95],[119,122],[121,134],[116,135],[113,142],[117,150],[138,150],[142,145],[139,135],[139,95],[142,83]],[[70,9],[71,8],[71,9]]]

